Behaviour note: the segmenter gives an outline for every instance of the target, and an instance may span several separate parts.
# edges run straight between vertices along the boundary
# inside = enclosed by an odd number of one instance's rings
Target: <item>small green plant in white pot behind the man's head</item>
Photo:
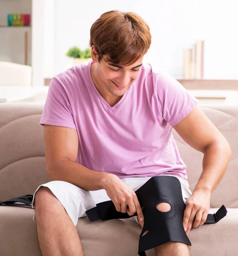
[[[87,47],[82,51],[79,47],[71,47],[66,55],[73,58],[73,65],[88,63],[91,60],[91,49]]]

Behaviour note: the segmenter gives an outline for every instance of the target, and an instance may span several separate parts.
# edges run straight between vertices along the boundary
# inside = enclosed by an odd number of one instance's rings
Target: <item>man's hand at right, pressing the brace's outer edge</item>
[[[210,208],[211,193],[203,190],[195,190],[186,201],[186,208],[183,215],[183,227],[187,228],[186,234],[192,227],[202,226],[207,219]],[[195,219],[195,220],[194,220]]]

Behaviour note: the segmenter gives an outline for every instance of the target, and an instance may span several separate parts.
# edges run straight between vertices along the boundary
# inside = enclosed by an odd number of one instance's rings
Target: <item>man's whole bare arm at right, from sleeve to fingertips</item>
[[[186,201],[183,227],[186,233],[206,221],[211,193],[223,178],[232,152],[226,138],[196,105],[179,123],[173,126],[180,137],[203,156],[203,172],[194,192]]]

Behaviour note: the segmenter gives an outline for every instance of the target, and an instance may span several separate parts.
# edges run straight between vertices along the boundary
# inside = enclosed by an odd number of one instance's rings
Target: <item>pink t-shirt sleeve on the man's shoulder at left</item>
[[[49,84],[40,124],[64,126],[76,130],[67,90],[55,78]]]

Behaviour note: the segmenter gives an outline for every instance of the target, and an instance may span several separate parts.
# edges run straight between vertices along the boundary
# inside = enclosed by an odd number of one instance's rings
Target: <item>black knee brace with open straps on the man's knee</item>
[[[191,242],[183,228],[183,214],[186,204],[183,201],[180,181],[174,176],[154,176],[135,191],[140,206],[143,207],[144,226],[139,236],[139,256],[146,256],[145,250],[157,247],[169,241],[188,244]],[[157,204],[168,203],[171,209],[161,212]],[[214,214],[208,214],[205,223],[215,223],[226,216],[224,205]],[[131,218],[127,213],[118,212],[112,201],[96,204],[86,211],[90,221]],[[142,236],[145,231],[147,234]]]

